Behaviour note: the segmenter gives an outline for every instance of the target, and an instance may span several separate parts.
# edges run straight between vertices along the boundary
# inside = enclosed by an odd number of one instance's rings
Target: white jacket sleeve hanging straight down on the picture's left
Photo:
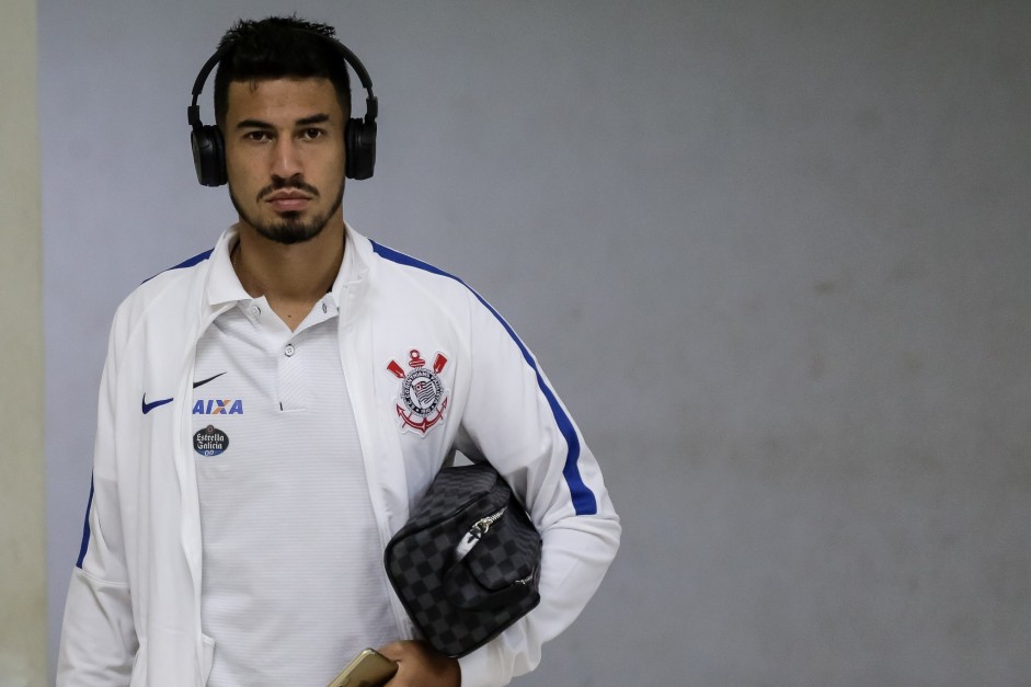
[[[116,318],[117,322],[117,318]],[[101,379],[93,480],[82,546],[65,604],[58,687],[128,685],[138,649],[115,462],[115,328]]]

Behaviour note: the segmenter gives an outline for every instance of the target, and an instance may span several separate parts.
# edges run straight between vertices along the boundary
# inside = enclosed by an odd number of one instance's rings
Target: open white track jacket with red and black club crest
[[[214,250],[233,236],[226,231]],[[350,227],[346,250],[358,277],[341,302],[340,355],[383,546],[456,449],[489,460],[541,533],[540,605],[460,660],[463,687],[505,685],[537,666],[541,645],[597,589],[619,546],[619,518],[580,430],[486,301]],[[190,424],[196,343],[232,307],[209,302],[210,254],[144,283],[115,314],[58,686],[202,686],[218,650],[201,627]],[[432,369],[438,387],[425,407],[402,398],[415,351],[426,360],[422,379]],[[399,627],[414,638],[400,602],[391,602]]]

